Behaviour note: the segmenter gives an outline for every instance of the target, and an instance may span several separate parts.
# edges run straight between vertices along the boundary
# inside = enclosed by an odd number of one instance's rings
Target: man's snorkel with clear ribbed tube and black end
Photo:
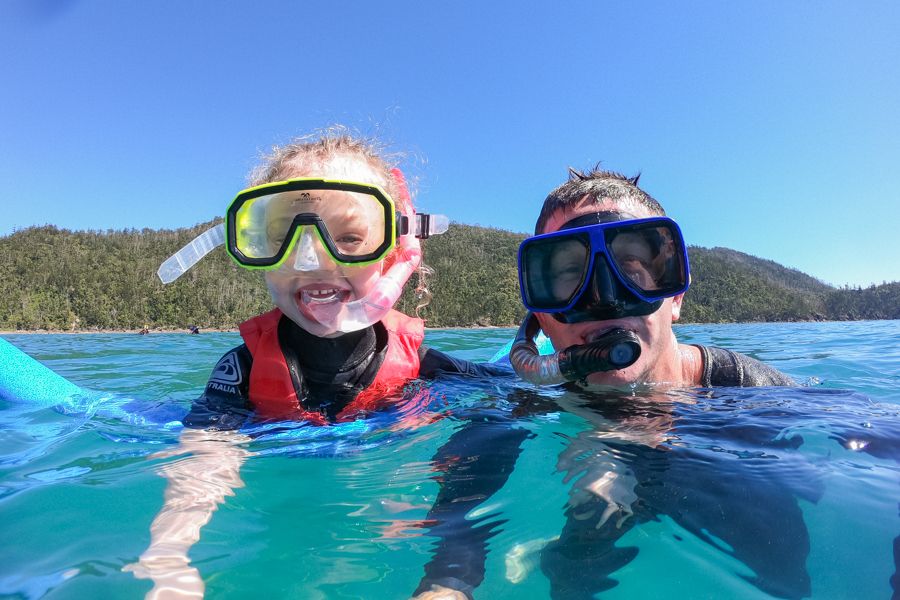
[[[509,362],[516,374],[535,385],[559,385],[584,379],[591,373],[625,369],[641,355],[641,344],[634,332],[613,329],[587,344],[541,356],[534,342],[538,331],[537,319],[528,313],[509,351]]]

